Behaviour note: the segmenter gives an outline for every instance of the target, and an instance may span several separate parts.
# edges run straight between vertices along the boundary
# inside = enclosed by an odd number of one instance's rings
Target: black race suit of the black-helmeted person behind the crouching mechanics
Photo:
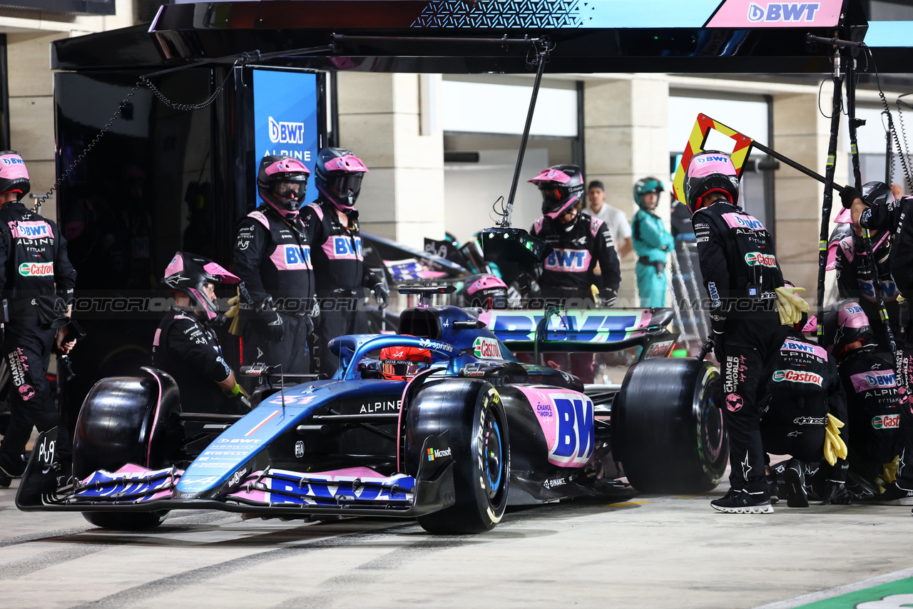
[[[895,340],[900,336],[900,305],[897,303],[897,286],[891,277],[888,267],[888,256],[891,252],[891,235],[882,231],[872,239],[875,247],[878,279],[880,282],[881,298],[885,302],[887,317],[891,322],[891,330]],[[885,324],[881,320],[876,299],[875,284],[872,281],[872,272],[869,268],[871,256],[868,254],[866,243],[861,236],[845,236],[837,247],[837,288],[841,298],[854,299],[859,302],[866,316],[872,324],[874,340],[882,352],[891,352],[891,343],[887,340]]]

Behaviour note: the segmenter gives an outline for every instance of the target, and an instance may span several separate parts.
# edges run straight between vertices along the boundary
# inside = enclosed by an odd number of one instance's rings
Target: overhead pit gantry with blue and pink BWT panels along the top
[[[332,56],[270,64],[523,73],[528,47],[478,39],[529,36],[554,43],[546,73],[821,73],[831,69],[832,48],[808,43],[807,34],[862,40],[868,27],[858,0],[177,0],[148,28],[59,41],[52,61],[58,69],[176,65],[324,47],[341,35]],[[910,37],[895,38],[879,37],[892,46],[873,48],[882,73],[910,69]]]

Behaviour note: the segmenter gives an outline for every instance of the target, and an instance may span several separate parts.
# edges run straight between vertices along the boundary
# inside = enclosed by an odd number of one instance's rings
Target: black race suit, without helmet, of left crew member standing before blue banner
[[[247,214],[238,223],[232,272],[241,278],[242,361],[309,373],[314,271],[301,219],[285,218],[268,204]],[[268,327],[277,310],[280,331]]]

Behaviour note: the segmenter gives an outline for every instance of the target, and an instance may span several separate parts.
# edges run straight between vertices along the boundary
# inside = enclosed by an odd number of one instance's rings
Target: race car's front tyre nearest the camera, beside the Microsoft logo
[[[510,478],[507,416],[498,391],[483,381],[428,383],[408,417],[416,438],[448,432],[454,458],[456,503],[418,523],[451,535],[494,529],[507,508]]]

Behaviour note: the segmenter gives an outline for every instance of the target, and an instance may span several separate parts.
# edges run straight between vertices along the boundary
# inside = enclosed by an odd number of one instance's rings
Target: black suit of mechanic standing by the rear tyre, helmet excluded
[[[783,276],[770,233],[740,207],[720,201],[699,209],[692,222],[715,351],[722,356],[729,483],[737,491],[763,496],[758,408],[785,335],[774,291],[782,287]]]

